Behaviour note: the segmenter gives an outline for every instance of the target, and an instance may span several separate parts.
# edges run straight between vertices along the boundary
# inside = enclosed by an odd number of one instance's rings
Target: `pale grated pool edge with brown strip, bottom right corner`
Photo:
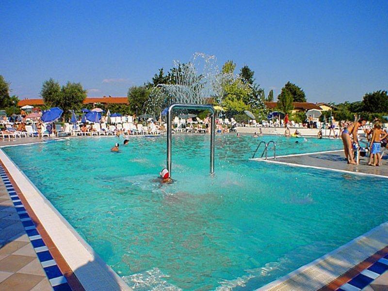
[[[382,239],[382,242],[378,243],[376,237],[380,240]],[[375,245],[368,245],[368,240]],[[387,244],[388,222],[385,222],[321,258],[264,285],[256,291],[337,290],[341,286],[346,285],[353,277],[342,282],[344,284],[339,284],[338,288],[327,287],[357,265],[367,261],[381,250],[386,249]],[[356,275],[360,272],[357,272]]]

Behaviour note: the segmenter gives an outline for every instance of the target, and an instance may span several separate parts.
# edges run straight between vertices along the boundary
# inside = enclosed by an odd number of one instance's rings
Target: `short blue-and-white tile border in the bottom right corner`
[[[371,284],[374,279],[388,270],[388,255],[374,262],[352,280],[343,284],[337,291],[361,290]]]

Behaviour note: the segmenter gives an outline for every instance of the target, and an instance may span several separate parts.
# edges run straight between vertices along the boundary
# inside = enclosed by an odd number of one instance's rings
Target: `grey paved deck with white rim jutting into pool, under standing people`
[[[343,150],[327,151],[311,154],[299,154],[273,157],[268,160],[261,158],[251,159],[252,161],[261,161],[277,163],[295,167],[305,167],[320,170],[336,171],[348,174],[371,176],[378,178],[388,178],[388,160],[387,156],[383,157],[382,166],[372,167],[367,163],[366,158],[360,158],[358,165],[348,164],[344,157]]]

